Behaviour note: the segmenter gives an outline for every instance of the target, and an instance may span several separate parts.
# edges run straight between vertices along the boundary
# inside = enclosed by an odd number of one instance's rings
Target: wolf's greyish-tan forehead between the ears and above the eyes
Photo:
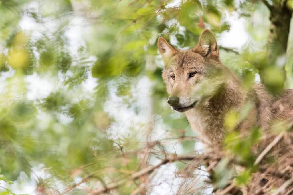
[[[206,69],[206,59],[192,50],[177,50],[171,61],[166,65],[168,71],[176,71],[177,69],[195,68],[197,71]]]

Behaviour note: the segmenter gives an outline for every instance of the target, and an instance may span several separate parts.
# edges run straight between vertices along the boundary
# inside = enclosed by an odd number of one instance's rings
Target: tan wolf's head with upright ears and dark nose
[[[205,29],[197,46],[192,50],[179,50],[159,37],[158,48],[165,68],[162,73],[168,103],[178,112],[199,106],[213,97],[224,82],[219,61],[219,47],[214,34]]]

